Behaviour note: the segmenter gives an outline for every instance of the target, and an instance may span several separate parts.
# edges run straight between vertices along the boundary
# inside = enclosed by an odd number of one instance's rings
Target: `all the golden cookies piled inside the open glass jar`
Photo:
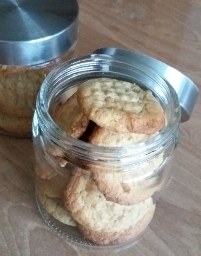
[[[84,82],[57,107],[53,119],[74,138],[104,147],[147,141],[164,126],[163,109],[149,90],[110,78]],[[158,176],[149,174],[163,163],[162,154],[140,167],[116,172],[103,170],[107,162],[72,168],[65,160],[68,152],[57,150],[51,149],[51,154],[68,175],[40,164],[36,169],[38,196],[49,214],[76,225],[98,244],[126,242],[144,231],[154,215],[152,195],[163,185]]]

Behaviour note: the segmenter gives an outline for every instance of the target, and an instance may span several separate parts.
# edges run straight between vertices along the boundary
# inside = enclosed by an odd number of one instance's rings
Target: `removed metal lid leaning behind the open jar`
[[[125,57],[129,63],[139,63],[154,69],[167,80],[176,91],[181,106],[181,122],[189,120],[198,97],[197,86],[185,75],[173,67],[141,53],[118,48],[100,48],[95,54]]]

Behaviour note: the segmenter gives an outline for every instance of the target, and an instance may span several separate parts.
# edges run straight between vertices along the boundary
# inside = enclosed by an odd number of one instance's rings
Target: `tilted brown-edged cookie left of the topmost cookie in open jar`
[[[76,93],[64,104],[57,107],[53,120],[62,130],[74,138],[79,138],[89,124],[89,119],[78,106]]]

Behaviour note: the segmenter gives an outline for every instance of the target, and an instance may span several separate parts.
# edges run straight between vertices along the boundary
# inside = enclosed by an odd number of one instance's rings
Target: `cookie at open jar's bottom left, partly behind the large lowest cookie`
[[[76,222],[72,219],[69,212],[64,208],[64,204],[61,199],[48,197],[41,191],[37,191],[37,195],[41,204],[43,205],[43,208],[46,210],[46,212],[51,214],[51,216],[66,225],[74,227],[76,226]]]

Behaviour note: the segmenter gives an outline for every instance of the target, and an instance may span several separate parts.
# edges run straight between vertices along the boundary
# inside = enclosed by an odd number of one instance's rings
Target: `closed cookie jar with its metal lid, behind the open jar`
[[[74,57],[76,0],[0,2],[0,132],[30,136],[47,74]]]

